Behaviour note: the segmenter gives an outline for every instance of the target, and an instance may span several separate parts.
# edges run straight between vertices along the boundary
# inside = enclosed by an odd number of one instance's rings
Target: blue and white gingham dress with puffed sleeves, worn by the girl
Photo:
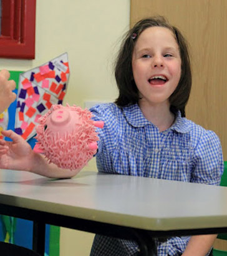
[[[177,113],[164,132],[143,116],[137,104],[100,104],[90,109],[104,121],[96,155],[99,172],[219,185],[223,155],[215,132],[205,130]],[[116,199],[117,200],[117,199]],[[181,255],[190,237],[157,242],[158,256]],[[135,242],[95,235],[90,256],[138,255]]]

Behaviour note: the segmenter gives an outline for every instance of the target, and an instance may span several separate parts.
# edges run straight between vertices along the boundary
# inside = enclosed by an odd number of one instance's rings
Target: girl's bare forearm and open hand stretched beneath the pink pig
[[[0,169],[26,170],[52,178],[70,178],[78,170],[60,169],[49,164],[43,155],[35,153],[22,137],[12,130],[2,131],[12,142],[0,140]]]

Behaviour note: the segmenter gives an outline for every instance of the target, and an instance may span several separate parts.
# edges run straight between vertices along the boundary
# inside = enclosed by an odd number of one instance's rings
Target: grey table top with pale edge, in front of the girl
[[[0,170],[0,204],[145,230],[227,227],[227,187],[88,171]]]

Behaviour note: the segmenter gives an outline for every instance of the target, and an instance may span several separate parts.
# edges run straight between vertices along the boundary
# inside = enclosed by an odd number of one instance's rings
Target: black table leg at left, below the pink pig
[[[33,223],[33,246],[32,249],[40,255],[45,253],[46,224],[40,221]]]

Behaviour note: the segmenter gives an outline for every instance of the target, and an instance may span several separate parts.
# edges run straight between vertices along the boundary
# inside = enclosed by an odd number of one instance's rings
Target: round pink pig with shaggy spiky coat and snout
[[[77,106],[52,105],[39,119],[34,151],[63,169],[78,170],[97,152],[95,127],[104,127],[103,121],[92,121],[92,113]]]

